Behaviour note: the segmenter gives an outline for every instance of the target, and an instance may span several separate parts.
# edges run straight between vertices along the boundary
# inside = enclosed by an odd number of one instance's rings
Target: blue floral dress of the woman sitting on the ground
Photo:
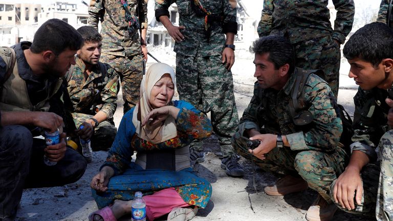
[[[144,195],[174,187],[183,200],[205,208],[211,196],[211,185],[198,177],[189,167],[180,171],[164,169],[143,169],[131,162],[134,151],[154,151],[158,149],[181,148],[195,139],[211,135],[211,122],[198,109],[185,101],[174,101],[180,109],[176,120],[178,136],[165,142],[152,144],[138,138],[132,122],[134,108],[122,118],[115,141],[108,152],[106,161],[101,166],[110,166],[115,174],[108,183],[108,190],[97,192],[92,189],[98,208],[113,203],[114,200],[133,200],[134,194],[141,191]]]

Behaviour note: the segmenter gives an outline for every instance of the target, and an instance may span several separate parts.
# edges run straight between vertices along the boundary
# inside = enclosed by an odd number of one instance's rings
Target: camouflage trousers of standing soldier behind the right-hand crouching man
[[[331,36],[313,38],[294,44],[296,67],[302,69],[320,69],[324,76],[319,76],[329,83],[337,99],[340,77],[340,46]]]

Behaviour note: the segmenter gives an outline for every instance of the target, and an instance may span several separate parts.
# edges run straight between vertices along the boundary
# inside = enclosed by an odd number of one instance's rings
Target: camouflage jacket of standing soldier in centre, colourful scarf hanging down
[[[205,15],[202,10],[189,0],[156,0],[156,18],[168,16],[168,8],[176,3],[179,11],[179,25],[186,27],[181,32],[185,40],[176,42],[174,52],[185,56],[221,55],[225,47],[224,33],[237,33],[236,1],[234,0],[200,0],[202,6],[211,12],[210,37],[205,33]]]

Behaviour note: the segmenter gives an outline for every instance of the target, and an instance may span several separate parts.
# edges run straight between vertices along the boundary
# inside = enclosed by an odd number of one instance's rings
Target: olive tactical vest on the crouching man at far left
[[[12,50],[12,49],[9,49]],[[0,50],[1,57],[9,66],[12,61],[11,54],[5,53],[6,50]],[[4,57],[9,57],[4,59]],[[27,85],[24,79],[20,78],[18,73],[18,65],[15,61],[13,72],[10,76],[6,76],[3,86],[0,87],[0,111],[49,111],[49,99],[59,90],[62,80],[57,80],[49,89],[48,96],[42,101],[33,105],[29,98]]]

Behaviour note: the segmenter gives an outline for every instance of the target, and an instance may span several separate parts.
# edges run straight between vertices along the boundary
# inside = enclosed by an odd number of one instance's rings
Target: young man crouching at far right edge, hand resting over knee
[[[344,57],[351,64],[349,76],[359,90],[354,97],[351,159],[331,190],[340,209],[377,220],[393,220],[393,130],[385,102],[393,98],[392,36],[386,24],[372,23],[356,31],[344,46]]]

